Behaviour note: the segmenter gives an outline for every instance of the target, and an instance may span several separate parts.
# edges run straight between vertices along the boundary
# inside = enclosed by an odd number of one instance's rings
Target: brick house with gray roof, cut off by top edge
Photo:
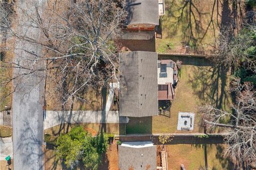
[[[164,0],[127,0],[126,27],[130,30],[155,30],[164,15]]]

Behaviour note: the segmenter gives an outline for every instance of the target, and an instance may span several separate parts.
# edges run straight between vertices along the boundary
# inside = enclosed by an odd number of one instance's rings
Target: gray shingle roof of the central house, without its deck
[[[120,116],[157,115],[157,53],[119,53],[119,67]]]

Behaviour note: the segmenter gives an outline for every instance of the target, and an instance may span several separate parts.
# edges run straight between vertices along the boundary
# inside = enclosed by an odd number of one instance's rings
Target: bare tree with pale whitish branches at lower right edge
[[[240,84],[235,79],[231,90],[236,95],[233,112],[206,105],[200,108],[207,127],[223,127],[228,147],[225,155],[247,163],[256,159],[256,91],[250,83]],[[230,119],[229,123],[227,119]]]

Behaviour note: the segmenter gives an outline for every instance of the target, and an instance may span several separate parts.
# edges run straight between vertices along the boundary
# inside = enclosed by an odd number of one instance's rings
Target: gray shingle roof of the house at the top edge
[[[158,0],[126,0],[126,24],[149,23],[159,25]]]

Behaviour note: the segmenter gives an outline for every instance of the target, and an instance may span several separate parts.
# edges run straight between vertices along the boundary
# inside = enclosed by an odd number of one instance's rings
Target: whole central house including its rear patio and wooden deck
[[[156,52],[124,52],[119,67],[120,116],[158,115],[158,101],[174,99],[178,69],[172,60],[158,61]]]

